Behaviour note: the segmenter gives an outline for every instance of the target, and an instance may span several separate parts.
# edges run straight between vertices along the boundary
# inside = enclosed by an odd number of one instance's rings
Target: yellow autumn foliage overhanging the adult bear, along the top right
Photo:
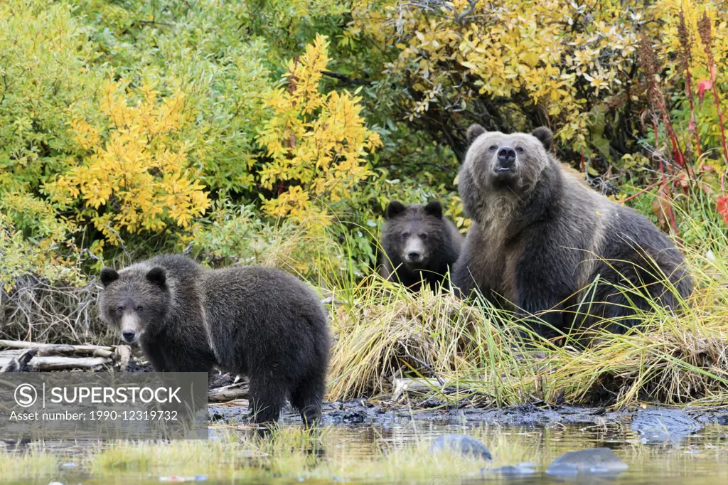
[[[608,147],[599,146],[604,113],[644,101],[636,79],[640,36],[654,44],[665,80],[682,76],[676,59],[683,10],[693,41],[690,66],[705,78],[697,20],[703,12],[711,19],[713,51],[724,66],[728,24],[716,15],[724,8],[693,0],[357,0],[348,33],[395,48],[387,71],[411,89],[404,103],[411,120],[434,110],[505,130],[539,123],[570,150],[600,149],[609,157]],[[463,129],[456,116],[451,125],[441,123],[443,130]]]

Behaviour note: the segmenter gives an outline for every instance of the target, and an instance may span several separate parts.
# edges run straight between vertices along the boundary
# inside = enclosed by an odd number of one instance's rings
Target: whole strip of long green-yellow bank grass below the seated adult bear
[[[482,299],[412,293],[378,275],[351,285],[324,277],[336,300],[328,398],[388,398],[392,379],[411,376],[428,378],[431,395],[445,401],[490,406],[727,403],[728,239],[720,221],[696,218],[695,208],[679,216],[686,232],[702,234],[682,248],[695,291],[675,311],[636,310],[644,324],[625,334],[600,330],[622,326],[604,320],[547,340]],[[628,297],[638,290],[621,288]]]

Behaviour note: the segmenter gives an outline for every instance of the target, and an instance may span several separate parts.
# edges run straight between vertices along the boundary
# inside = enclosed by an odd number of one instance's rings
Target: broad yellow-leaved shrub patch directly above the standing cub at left
[[[162,97],[149,85],[133,90],[108,82],[100,102],[105,122],[100,127],[84,119],[69,123],[73,139],[90,154],[47,185],[53,200],[71,205],[81,197],[110,242],[118,242],[119,229],[158,232],[167,224],[188,226],[210,201],[185,147],[173,138],[186,116],[184,105],[181,90]]]

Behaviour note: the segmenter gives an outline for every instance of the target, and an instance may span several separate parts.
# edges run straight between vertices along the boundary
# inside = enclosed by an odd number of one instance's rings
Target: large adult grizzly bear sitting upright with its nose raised
[[[649,309],[652,299],[673,309],[692,292],[673,242],[563,170],[550,130],[505,135],[473,125],[467,139],[459,192],[473,225],[453,269],[466,296],[477,288],[523,315],[544,312],[537,331],[552,336],[601,318],[620,318],[610,329],[624,331],[638,323],[633,307]]]

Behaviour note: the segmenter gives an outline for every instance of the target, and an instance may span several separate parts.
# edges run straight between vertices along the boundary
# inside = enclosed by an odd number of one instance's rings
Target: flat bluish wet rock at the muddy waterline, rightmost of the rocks
[[[654,409],[638,411],[630,427],[645,443],[665,443],[681,441],[687,435],[700,431],[703,425],[681,411]]]

